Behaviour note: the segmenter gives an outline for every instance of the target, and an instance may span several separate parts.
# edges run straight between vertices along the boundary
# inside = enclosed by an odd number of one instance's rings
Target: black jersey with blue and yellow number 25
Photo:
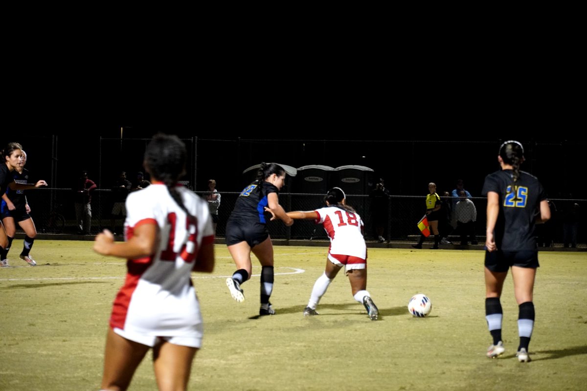
[[[512,170],[496,171],[485,177],[484,196],[499,195],[500,212],[495,223],[495,245],[502,251],[537,250],[534,234],[540,202],[546,192],[538,178],[520,171],[518,181],[512,179]]]

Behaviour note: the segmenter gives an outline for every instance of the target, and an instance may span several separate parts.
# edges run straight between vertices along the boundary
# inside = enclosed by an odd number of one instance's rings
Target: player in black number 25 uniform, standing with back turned
[[[506,141],[497,157],[501,170],[487,175],[487,240],[485,247],[485,318],[493,344],[487,356],[505,351],[501,339],[500,296],[508,269],[512,269],[514,293],[519,305],[519,362],[528,362],[528,345],[534,328],[532,295],[538,264],[534,226],[550,219],[546,193],[535,176],[520,171],[524,148],[518,141]]]

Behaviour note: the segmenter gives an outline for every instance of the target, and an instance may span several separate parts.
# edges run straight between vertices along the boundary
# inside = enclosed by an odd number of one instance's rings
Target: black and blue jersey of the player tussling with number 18
[[[265,206],[268,205],[267,196],[270,193],[279,195],[279,189],[266,181],[251,183],[238,196],[230,219],[267,223],[271,219],[271,213],[265,212]]]

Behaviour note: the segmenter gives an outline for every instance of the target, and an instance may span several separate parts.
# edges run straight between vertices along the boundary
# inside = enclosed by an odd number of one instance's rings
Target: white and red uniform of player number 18
[[[326,206],[315,212],[318,213],[316,223],[322,223],[330,238],[328,259],[332,263],[346,265],[346,270],[365,268],[367,246],[361,216],[336,206]]]

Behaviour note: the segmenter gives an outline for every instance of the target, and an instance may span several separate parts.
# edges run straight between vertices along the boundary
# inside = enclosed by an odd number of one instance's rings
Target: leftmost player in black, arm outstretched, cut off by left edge
[[[10,142],[6,145],[6,148],[2,151],[2,159],[4,163],[0,164],[0,194],[4,194],[8,188],[11,190],[28,190],[47,185],[45,181],[38,181],[34,185],[14,181],[12,174],[22,164],[22,145],[18,144],[18,142]],[[0,254],[3,254],[6,248],[9,248],[9,240],[4,230],[4,225],[0,223]],[[0,266],[9,266],[8,261],[6,259],[0,260]]]

